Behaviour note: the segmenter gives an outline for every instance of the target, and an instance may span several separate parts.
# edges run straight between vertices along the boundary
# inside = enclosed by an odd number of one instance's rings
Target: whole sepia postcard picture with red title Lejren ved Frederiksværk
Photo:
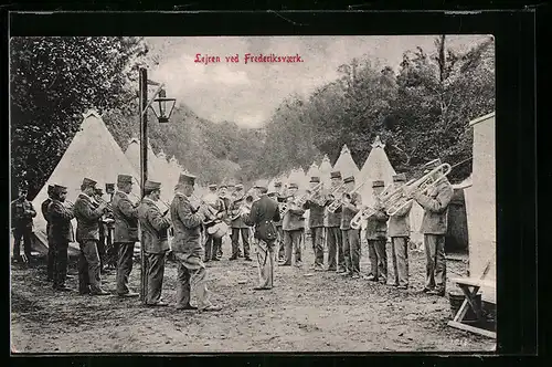
[[[11,354],[496,352],[490,34],[12,36]]]

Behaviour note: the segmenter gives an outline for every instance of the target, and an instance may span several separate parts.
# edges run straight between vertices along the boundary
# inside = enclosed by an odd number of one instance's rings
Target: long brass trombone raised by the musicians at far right
[[[443,164],[429,172],[425,174],[417,180],[410,180],[405,185],[397,188],[391,196],[388,195],[388,200],[385,203],[385,209],[388,216],[392,217],[397,211],[410,205],[413,200],[415,193],[425,193],[431,188],[435,187],[435,185],[443,178],[446,177],[450,172],[450,165]]]

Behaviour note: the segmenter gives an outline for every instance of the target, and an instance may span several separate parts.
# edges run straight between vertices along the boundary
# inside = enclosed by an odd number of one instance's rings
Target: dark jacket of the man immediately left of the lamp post
[[[138,241],[138,209],[135,208],[128,196],[121,191],[115,192],[112,208],[115,219],[113,242]]]

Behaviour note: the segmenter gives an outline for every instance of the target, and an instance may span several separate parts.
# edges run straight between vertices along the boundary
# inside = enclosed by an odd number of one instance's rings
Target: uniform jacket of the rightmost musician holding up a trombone
[[[424,218],[420,231],[424,234],[446,234],[448,205],[453,199],[453,187],[447,179],[440,180],[426,195],[420,195],[416,200],[424,208]]]

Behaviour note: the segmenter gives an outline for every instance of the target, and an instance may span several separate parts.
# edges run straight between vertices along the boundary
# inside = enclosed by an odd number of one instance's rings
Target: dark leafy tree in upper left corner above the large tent
[[[26,180],[31,197],[41,189],[86,109],[131,105],[130,83],[147,52],[140,38],[12,38],[12,186]]]

